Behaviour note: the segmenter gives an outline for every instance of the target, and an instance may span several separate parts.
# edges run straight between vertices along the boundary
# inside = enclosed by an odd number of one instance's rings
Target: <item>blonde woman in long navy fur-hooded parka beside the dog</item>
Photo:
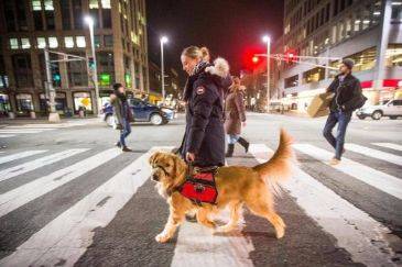
[[[197,46],[185,48],[181,56],[188,74],[184,90],[186,101],[186,131],[180,153],[194,166],[225,165],[225,130],[222,85],[217,76],[226,78],[229,67],[214,66],[203,60]],[[227,71],[220,71],[226,69]]]

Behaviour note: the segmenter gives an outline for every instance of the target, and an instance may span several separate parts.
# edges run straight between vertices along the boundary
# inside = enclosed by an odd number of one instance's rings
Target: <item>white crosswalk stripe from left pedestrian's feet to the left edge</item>
[[[95,156],[0,194],[0,216],[99,167],[120,154],[121,151],[117,148],[104,151]]]

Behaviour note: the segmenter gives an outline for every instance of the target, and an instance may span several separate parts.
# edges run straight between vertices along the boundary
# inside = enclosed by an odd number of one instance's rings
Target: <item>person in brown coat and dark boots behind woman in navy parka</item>
[[[243,102],[243,90],[238,77],[233,78],[233,84],[229,88],[230,92],[225,100],[225,131],[228,140],[228,151],[226,157],[231,157],[235,151],[235,144],[239,142],[245,147],[246,153],[249,151],[249,142],[241,134],[241,126],[246,126],[246,109]]]

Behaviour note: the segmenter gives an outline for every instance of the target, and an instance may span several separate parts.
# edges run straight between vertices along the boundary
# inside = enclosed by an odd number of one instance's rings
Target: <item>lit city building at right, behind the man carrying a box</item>
[[[271,90],[298,111],[327,88],[347,57],[371,103],[395,98],[402,0],[285,0],[284,34],[272,53],[281,56],[273,60]]]

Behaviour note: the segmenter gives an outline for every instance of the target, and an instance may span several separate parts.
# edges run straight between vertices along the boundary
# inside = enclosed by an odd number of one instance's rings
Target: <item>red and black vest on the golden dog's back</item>
[[[215,183],[215,171],[198,173],[188,176],[178,191],[182,196],[196,204],[215,204],[218,197],[218,190],[216,189]]]

